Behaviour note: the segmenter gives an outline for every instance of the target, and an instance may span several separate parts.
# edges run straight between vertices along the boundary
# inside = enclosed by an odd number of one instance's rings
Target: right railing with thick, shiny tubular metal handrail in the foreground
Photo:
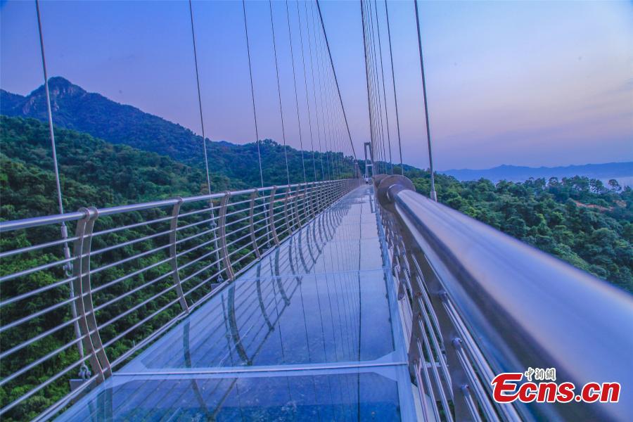
[[[630,420],[633,299],[564,262],[378,176],[409,363],[425,421]],[[498,404],[502,372],[619,382],[608,404]]]

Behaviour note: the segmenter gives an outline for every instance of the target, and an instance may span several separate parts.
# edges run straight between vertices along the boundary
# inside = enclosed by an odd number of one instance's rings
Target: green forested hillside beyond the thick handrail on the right
[[[407,173],[418,192],[427,172]],[[436,174],[437,199],[633,293],[633,191],[596,179],[457,181]]]

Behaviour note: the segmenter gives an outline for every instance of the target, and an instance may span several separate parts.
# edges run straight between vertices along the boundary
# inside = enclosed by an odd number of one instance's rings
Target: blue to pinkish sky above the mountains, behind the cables
[[[272,6],[286,134],[298,146],[286,5]],[[295,49],[297,6],[290,3]],[[299,6],[312,13],[312,3]],[[388,6],[404,161],[426,167],[413,2]],[[241,2],[194,1],[193,8],[207,136],[253,141]],[[359,2],[322,8],[362,151],[369,113]],[[249,1],[247,11],[260,138],[281,141],[269,4]],[[422,1],[419,11],[438,170],[633,160],[632,2]],[[27,94],[42,82],[34,3],[4,1],[0,13],[0,87]],[[200,132],[185,1],[49,0],[41,13],[49,75]],[[381,23],[385,31],[383,14]],[[305,98],[300,108],[305,124]]]

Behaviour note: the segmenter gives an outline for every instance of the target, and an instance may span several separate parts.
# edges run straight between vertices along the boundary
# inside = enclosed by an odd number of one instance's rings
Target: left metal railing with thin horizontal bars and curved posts
[[[50,415],[103,382],[358,184],[272,186],[0,222],[0,415]],[[59,224],[74,235],[60,239]]]

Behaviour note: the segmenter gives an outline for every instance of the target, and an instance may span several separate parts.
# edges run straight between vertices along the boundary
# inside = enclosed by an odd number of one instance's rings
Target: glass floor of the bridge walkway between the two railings
[[[361,186],[63,420],[413,420],[373,189]]]

